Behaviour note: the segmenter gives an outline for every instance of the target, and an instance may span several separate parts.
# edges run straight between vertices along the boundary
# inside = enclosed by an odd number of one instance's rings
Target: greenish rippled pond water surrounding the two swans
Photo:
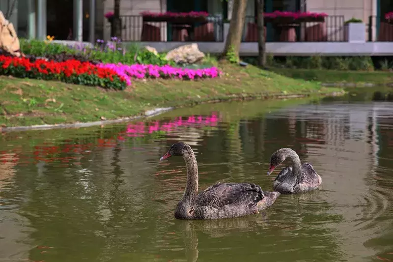
[[[145,122],[3,133],[0,261],[393,261],[393,102],[388,91],[322,100],[231,102]],[[258,215],[173,217],[183,194],[176,141],[200,190],[251,181],[270,191],[270,155],[292,147],[320,190]],[[287,162],[286,162],[287,163]]]

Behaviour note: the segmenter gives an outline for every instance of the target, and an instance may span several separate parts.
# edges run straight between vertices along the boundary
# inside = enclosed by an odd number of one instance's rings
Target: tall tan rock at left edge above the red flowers
[[[0,49],[13,56],[20,57],[22,55],[20,48],[19,38],[14,26],[5,19],[0,11]]]

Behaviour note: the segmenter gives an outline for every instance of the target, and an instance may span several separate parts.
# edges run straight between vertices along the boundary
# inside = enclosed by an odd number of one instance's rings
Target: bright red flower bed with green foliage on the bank
[[[63,62],[29,58],[0,56],[0,75],[19,78],[60,80],[66,83],[124,89],[126,79],[109,67],[96,66],[90,62],[66,60]]]

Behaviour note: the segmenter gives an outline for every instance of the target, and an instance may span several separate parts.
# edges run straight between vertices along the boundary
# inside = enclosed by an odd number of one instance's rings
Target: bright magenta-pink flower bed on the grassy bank
[[[144,65],[144,64],[98,64],[98,67],[108,68],[117,73],[120,77],[124,78],[127,85],[131,85],[131,79],[144,79],[144,78],[163,78],[163,79],[203,79],[203,78],[216,78],[222,72],[217,67],[210,67],[204,69],[187,69],[177,68],[169,65]]]

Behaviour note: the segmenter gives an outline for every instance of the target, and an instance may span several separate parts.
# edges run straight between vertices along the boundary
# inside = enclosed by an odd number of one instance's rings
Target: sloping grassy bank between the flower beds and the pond
[[[341,91],[288,78],[254,66],[220,65],[225,75],[203,81],[135,81],[124,91],[53,81],[2,77],[0,124],[20,126],[115,119],[154,107],[183,106],[215,99]]]

